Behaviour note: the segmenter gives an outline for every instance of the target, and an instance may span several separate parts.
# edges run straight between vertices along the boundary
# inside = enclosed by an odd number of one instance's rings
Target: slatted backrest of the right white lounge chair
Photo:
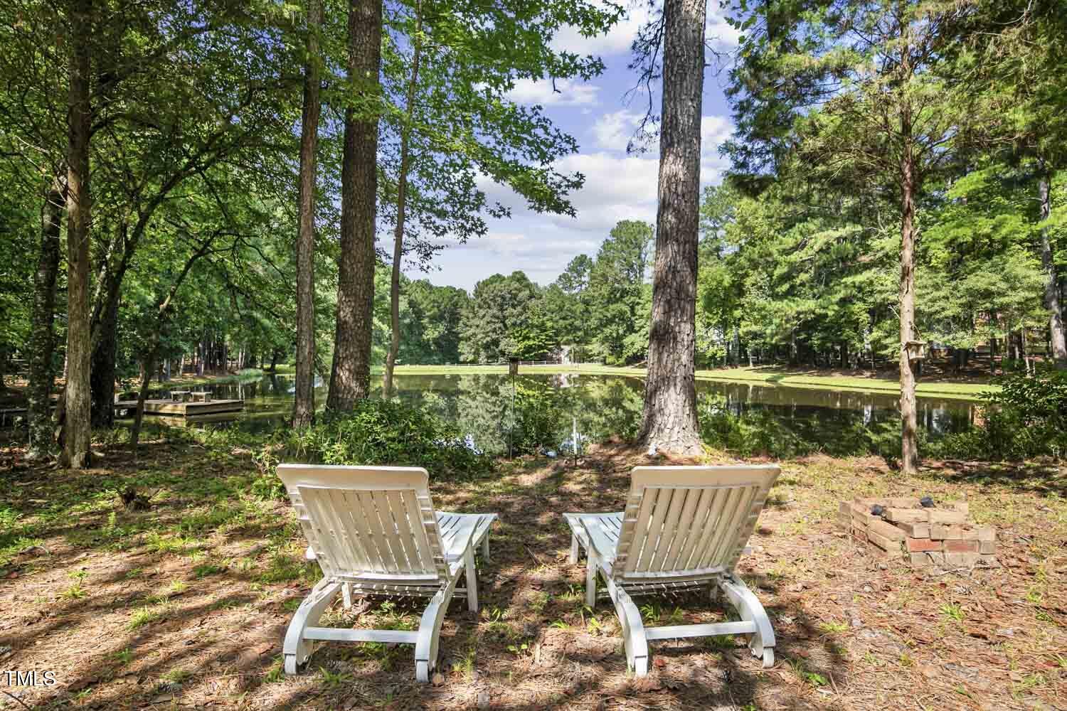
[[[778,473],[777,466],[635,468],[616,576],[732,571]]]

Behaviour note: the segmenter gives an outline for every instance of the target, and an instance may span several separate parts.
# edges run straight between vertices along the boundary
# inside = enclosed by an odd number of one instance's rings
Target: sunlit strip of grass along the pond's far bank
[[[380,373],[380,368],[372,369]],[[453,375],[467,373],[507,373],[507,366],[397,366],[398,375]],[[522,366],[521,372],[526,373],[588,373],[592,375],[625,375],[628,377],[644,377],[643,368],[614,367],[599,365],[580,366]],[[791,388],[809,388],[816,390],[858,390],[864,392],[888,392],[896,394],[901,391],[898,383],[882,377],[866,377],[861,375],[819,374],[809,371],[794,371],[780,368],[719,368],[716,370],[698,370],[698,381],[719,381],[728,383],[752,383],[763,385],[782,385]],[[921,381],[915,394],[926,398],[957,398],[975,400],[983,392],[998,390],[1000,386],[988,383],[952,383],[944,381]]]

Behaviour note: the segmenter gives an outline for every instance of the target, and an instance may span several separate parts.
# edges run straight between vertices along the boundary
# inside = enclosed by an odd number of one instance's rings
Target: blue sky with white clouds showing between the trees
[[[718,3],[708,2],[706,34],[717,49],[729,50],[736,43],[736,32],[718,13]],[[636,75],[626,65],[631,61],[631,43],[646,18],[643,7],[635,7],[604,36],[587,39],[576,32],[564,31],[556,38],[558,49],[603,59],[606,69],[592,81],[557,81],[560,93],[554,93],[548,82],[523,81],[512,92],[511,98],[516,101],[544,107],[548,117],[577,140],[578,152],[558,162],[561,171],[578,171],[586,176],[585,187],[571,196],[577,215],[530,212],[509,189],[487,181],[482,189],[490,199],[511,206],[512,217],[491,220],[485,237],[465,245],[448,246],[434,259],[434,271],[409,272],[409,276],[469,291],[488,276],[522,270],[534,281],[548,285],[575,256],[595,256],[619,220],[655,221],[658,167],[655,147],[640,156],[626,155],[626,143],[643,112],[641,97],[626,102],[626,91],[636,81]],[[718,182],[726,167],[718,157],[719,144],[732,131],[722,93],[724,80],[724,72],[716,76],[713,67],[704,75],[702,184]],[[658,95],[654,100],[658,113]]]

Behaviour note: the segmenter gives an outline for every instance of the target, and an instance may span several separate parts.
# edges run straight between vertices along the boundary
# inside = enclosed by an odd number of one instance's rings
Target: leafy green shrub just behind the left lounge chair
[[[269,476],[280,462],[425,467],[434,476],[469,476],[493,465],[450,423],[385,400],[364,400],[351,411],[327,413],[306,430],[278,430],[256,462]],[[276,491],[271,483],[256,483],[257,494]]]

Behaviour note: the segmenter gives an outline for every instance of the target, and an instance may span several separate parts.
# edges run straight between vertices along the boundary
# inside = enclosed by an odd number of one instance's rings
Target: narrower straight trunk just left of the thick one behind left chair
[[[319,138],[319,31],[322,3],[307,1],[304,113],[300,129],[300,227],[297,236],[297,383],[292,426],[315,419],[315,167]]]

